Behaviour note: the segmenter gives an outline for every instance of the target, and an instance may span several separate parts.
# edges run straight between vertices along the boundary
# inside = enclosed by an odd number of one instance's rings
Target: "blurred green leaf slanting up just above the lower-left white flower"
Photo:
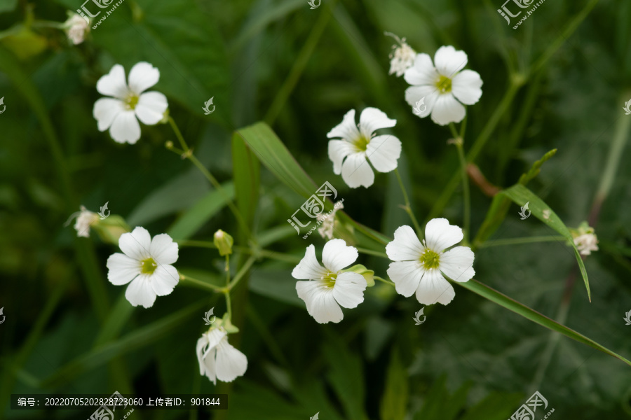
[[[171,225],[167,233],[176,240],[189,239],[195,235],[206,222],[215,216],[221,209],[226,206],[226,195],[230,200],[234,198],[234,186],[232,183],[222,184],[224,188],[221,191],[212,190],[210,193],[202,197],[193,207],[188,209],[177,221]]]

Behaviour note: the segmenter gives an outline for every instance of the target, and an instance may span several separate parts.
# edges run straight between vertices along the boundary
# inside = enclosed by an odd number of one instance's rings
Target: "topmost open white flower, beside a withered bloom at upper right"
[[[463,120],[465,107],[462,104],[473,105],[482,96],[480,74],[462,70],[467,61],[466,53],[456,51],[451,45],[438,48],[433,63],[427,54],[416,55],[414,66],[403,76],[412,85],[405,90],[406,102],[414,106],[425,98],[427,108],[416,115],[425,118],[431,114],[438,125]]]

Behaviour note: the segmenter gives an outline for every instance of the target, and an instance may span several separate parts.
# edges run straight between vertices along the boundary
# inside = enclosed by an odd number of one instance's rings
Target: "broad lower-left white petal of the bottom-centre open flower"
[[[333,297],[333,290],[320,280],[297,281],[298,297],[304,300],[309,315],[318,323],[339,322],[344,314]]]

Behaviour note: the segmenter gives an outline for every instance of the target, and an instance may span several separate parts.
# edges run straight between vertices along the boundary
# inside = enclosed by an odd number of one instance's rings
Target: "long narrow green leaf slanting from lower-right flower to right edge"
[[[533,321],[534,323],[538,323],[542,327],[548,328],[552,331],[560,332],[562,335],[565,335],[566,337],[574,339],[577,342],[586,344],[594,349],[602,351],[603,353],[607,353],[609,354],[609,356],[618,358],[622,360],[624,363],[626,363],[627,365],[631,366],[631,361],[627,360],[623,356],[620,356],[618,353],[614,353],[613,351],[607,349],[601,344],[598,344],[594,340],[588,337],[585,337],[585,335],[582,335],[580,332],[576,332],[572,330],[571,328],[567,328],[565,325],[557,323],[557,321],[554,321],[553,319],[548,318],[548,316],[540,314],[534,309],[530,309],[526,305],[520,302],[517,302],[517,300],[511,299],[510,297],[504,295],[503,293],[500,293],[497,290],[490,288],[484,283],[480,283],[480,281],[471,279],[470,281],[467,281],[465,283],[457,283],[457,284],[459,286],[462,286],[463,288],[467,288],[471,290],[473,293],[477,293],[478,295],[484,297],[485,299],[490,300],[491,302],[494,302],[500,305],[501,307],[505,307],[506,309],[515,312],[515,314],[521,315],[524,318],[527,318],[530,321]]]

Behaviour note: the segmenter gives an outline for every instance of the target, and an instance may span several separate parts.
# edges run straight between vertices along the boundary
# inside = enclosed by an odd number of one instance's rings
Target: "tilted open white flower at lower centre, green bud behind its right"
[[[342,239],[328,241],[322,251],[320,265],[315,258],[315,247],[306,248],[304,258],[294,267],[294,279],[297,281],[298,297],[306,303],[308,313],[319,323],[339,322],[344,314],[339,305],[355,308],[364,301],[366,280],[361,274],[341,273],[357,260],[358,252],[353,246],[346,246]]]

